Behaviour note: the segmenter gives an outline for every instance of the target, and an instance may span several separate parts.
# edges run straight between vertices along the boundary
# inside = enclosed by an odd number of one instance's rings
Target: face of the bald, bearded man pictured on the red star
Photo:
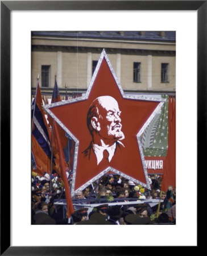
[[[125,135],[121,130],[121,111],[119,110],[118,102],[110,96],[102,96],[98,102],[100,104],[98,106],[100,136],[106,140],[118,141],[124,139]]]

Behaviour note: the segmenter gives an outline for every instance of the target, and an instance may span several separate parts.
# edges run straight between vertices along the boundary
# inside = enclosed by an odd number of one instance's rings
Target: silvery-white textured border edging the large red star
[[[89,181],[87,181],[85,184],[83,184],[80,188],[77,188],[76,191],[74,190],[74,186],[75,186],[75,182],[76,182],[76,168],[77,168],[77,156],[78,156],[78,146],[79,146],[79,141],[78,139],[71,133],[70,130],[68,130],[68,128],[59,120],[59,118],[56,117],[56,115],[54,115],[51,110],[49,110],[49,108],[53,108],[55,106],[61,106],[61,105],[67,105],[67,104],[71,104],[77,101],[84,101],[87,100],[90,94],[90,90],[92,89],[92,86],[94,84],[94,81],[96,80],[96,76],[97,73],[100,69],[101,63],[103,58],[105,58],[107,65],[109,66],[109,69],[111,71],[111,74],[114,77],[114,80],[118,86],[118,89],[122,95],[123,98],[127,99],[127,100],[144,100],[144,101],[159,101],[159,105],[155,108],[154,112],[152,112],[152,114],[150,115],[150,117],[147,119],[146,123],[144,123],[144,125],[142,126],[142,128],[139,130],[138,134],[136,134],[136,139],[138,142],[138,147],[139,147],[139,152],[140,152],[140,157],[142,160],[142,166],[143,166],[143,171],[144,171],[144,176],[146,179],[146,183],[143,183],[142,181],[136,180],[133,177],[124,174],[123,172],[116,170],[112,167],[107,167],[105,170],[101,171],[98,175],[94,176],[92,179],[90,179]],[[105,175],[107,172],[112,171],[115,174],[125,177],[126,179],[129,179],[131,181],[133,181],[136,184],[140,184],[142,185],[144,188],[150,189],[150,180],[148,179],[148,173],[147,173],[147,168],[146,168],[146,163],[145,163],[145,159],[144,159],[144,154],[143,154],[143,148],[142,148],[142,143],[140,140],[140,137],[143,133],[143,131],[146,129],[146,127],[150,124],[150,122],[152,121],[152,119],[155,117],[156,113],[158,113],[160,111],[160,109],[162,108],[164,102],[166,101],[166,99],[162,99],[162,98],[150,98],[150,97],[144,97],[144,96],[138,96],[138,95],[125,95],[125,93],[123,92],[122,86],[118,81],[117,76],[115,75],[114,69],[110,63],[109,58],[106,55],[105,49],[102,50],[101,52],[101,56],[100,59],[98,60],[96,69],[93,73],[92,79],[90,80],[90,84],[88,86],[88,89],[86,90],[85,96],[81,96],[81,97],[77,97],[77,98],[72,98],[69,100],[64,100],[64,101],[59,101],[53,104],[47,104],[44,105],[43,108],[45,109],[45,111],[51,115],[51,117],[53,119],[55,119],[55,121],[63,128],[63,130],[65,130],[65,132],[73,139],[73,141],[75,142],[75,148],[74,148],[74,159],[73,159],[73,175],[72,175],[72,185],[71,185],[71,195],[74,196],[77,192],[82,191],[83,189],[85,189],[86,187],[88,187],[90,184],[92,184],[94,181],[96,181],[97,179],[99,179],[100,177],[102,177],[103,175]]]

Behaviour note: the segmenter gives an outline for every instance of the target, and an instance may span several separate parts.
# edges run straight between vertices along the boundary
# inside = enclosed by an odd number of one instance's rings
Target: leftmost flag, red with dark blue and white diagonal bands
[[[51,172],[51,142],[47,121],[45,119],[42,94],[39,83],[36,96],[32,102],[32,152],[35,160],[33,171],[43,176],[44,172]]]

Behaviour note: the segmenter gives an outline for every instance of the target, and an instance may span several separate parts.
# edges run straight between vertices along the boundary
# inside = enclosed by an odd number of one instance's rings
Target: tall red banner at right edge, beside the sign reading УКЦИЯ
[[[175,98],[169,96],[168,104],[168,151],[166,155],[162,191],[167,191],[169,185],[176,186],[176,104]]]

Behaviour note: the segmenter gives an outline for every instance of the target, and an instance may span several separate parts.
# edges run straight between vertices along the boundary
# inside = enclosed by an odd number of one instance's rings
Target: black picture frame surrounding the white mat
[[[11,160],[10,13],[13,10],[197,10],[198,174],[206,158],[206,150],[201,146],[206,146],[206,1],[1,1],[1,255],[95,255],[97,252],[98,255],[146,255],[145,247],[136,246],[132,246],[130,251],[128,246],[10,246],[10,185],[8,182],[5,184],[5,180],[10,180]],[[195,247],[198,248],[198,243]],[[154,253],[156,254],[156,251]]]

